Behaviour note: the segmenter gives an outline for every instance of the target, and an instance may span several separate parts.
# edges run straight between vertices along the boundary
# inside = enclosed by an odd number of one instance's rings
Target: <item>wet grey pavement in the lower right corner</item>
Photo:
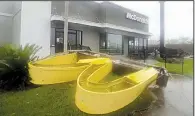
[[[193,116],[193,80],[184,76],[169,78],[164,89],[152,89],[157,100],[142,116]]]

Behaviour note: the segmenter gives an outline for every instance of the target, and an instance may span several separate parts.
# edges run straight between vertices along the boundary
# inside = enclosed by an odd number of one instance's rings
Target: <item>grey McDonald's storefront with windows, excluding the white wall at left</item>
[[[62,52],[63,43],[58,45],[57,40],[60,33],[62,38],[64,35],[61,15],[64,2],[52,1],[51,9],[51,46],[55,47],[55,52]],[[128,56],[143,53],[150,35],[145,15],[111,2],[69,2],[68,49],[80,49],[82,45],[94,51]]]

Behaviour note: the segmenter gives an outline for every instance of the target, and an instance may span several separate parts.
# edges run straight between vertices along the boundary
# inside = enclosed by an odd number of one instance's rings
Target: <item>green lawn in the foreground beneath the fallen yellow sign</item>
[[[89,116],[76,107],[75,90],[76,81],[0,92],[0,116]],[[130,105],[105,116],[128,116],[133,110],[148,107],[151,100],[146,91]]]

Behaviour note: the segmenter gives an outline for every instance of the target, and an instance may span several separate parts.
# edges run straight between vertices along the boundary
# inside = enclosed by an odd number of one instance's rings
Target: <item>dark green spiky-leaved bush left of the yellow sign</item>
[[[35,44],[0,47],[0,89],[24,89],[29,84],[28,62],[38,58],[35,54],[39,49]]]

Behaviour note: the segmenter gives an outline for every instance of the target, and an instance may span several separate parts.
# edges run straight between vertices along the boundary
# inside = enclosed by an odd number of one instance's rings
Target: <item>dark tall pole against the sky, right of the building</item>
[[[165,47],[164,47],[164,2],[160,1],[160,57],[163,58],[165,54]]]

